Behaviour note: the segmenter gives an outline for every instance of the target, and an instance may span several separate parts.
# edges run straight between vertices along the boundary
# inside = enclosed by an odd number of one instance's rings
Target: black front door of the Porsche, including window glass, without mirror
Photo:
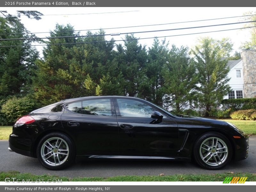
[[[155,108],[135,99],[114,99],[120,154],[130,156],[176,156],[180,149],[177,124],[164,116],[153,123]]]

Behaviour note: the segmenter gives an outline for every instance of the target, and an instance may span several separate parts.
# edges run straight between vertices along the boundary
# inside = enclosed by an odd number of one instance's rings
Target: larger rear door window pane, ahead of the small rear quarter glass
[[[85,100],[82,102],[82,114],[112,116],[110,100]]]

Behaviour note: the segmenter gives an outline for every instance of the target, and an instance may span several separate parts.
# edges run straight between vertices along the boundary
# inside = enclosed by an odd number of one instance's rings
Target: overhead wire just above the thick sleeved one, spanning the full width
[[[254,14],[255,15],[255,14]],[[39,33],[62,33],[62,32],[75,32],[75,31],[93,31],[93,30],[106,30],[106,29],[120,29],[120,28],[135,28],[135,27],[149,27],[149,26],[159,26],[159,25],[170,25],[170,24],[179,24],[179,23],[190,23],[190,22],[199,22],[199,21],[209,21],[209,20],[221,20],[221,19],[231,19],[237,17],[248,17],[254,15],[241,15],[241,16],[233,16],[233,17],[222,17],[215,19],[204,19],[204,20],[192,20],[192,21],[180,21],[180,22],[172,22],[172,23],[162,23],[162,24],[151,24],[151,25],[137,25],[137,26],[126,26],[126,27],[113,27],[113,28],[97,28],[97,29],[82,29],[82,30],[66,30],[66,31],[47,31],[47,32],[35,32],[35,33],[2,33],[0,35],[25,35],[25,34],[39,34]]]

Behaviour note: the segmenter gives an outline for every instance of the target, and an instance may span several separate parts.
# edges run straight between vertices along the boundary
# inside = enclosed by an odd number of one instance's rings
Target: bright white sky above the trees
[[[7,11],[11,14],[16,14],[16,10],[21,8],[9,8]],[[75,30],[99,29],[99,28],[116,28],[116,27],[130,27],[141,25],[155,25],[173,22],[184,22],[193,20],[217,19],[223,17],[242,16],[245,12],[256,12],[255,7],[52,7],[52,8],[22,8],[22,10],[36,10],[43,13],[45,16],[41,20],[31,20],[25,16],[21,16],[21,22],[30,32],[48,32],[53,31],[55,25],[71,24]],[[54,15],[53,15],[54,14]],[[61,14],[61,15],[60,15]],[[76,14],[76,15],[71,15]],[[119,29],[105,29],[106,34],[110,33],[130,33],[151,30],[164,30],[174,28],[188,28],[206,25],[216,25],[224,23],[242,22],[243,18],[230,18],[221,20],[208,20],[198,22],[187,22],[179,24],[156,25],[148,27],[133,27],[133,28],[119,28]],[[138,38],[156,37],[156,36],[172,36],[189,33],[200,33],[207,31],[216,31],[232,28],[242,28],[244,24],[216,26],[207,28],[195,28],[184,30],[172,30],[150,33],[134,34]],[[92,30],[96,32],[98,30]],[[36,34],[38,37],[47,37],[49,33]],[[81,31],[80,35],[86,35],[86,31]],[[173,36],[166,37],[166,41],[180,47],[188,46],[192,48],[196,45],[199,37],[209,36],[214,39],[221,39],[229,37],[234,43],[233,49],[239,51],[241,43],[250,40],[250,29],[239,29],[231,31],[222,31],[214,33],[204,33],[198,35]],[[115,40],[124,39],[125,35],[120,36],[105,36],[106,40],[111,38]],[[159,38],[163,40],[164,38]],[[121,43],[121,42],[116,42]],[[139,43],[151,47],[153,39],[141,39]],[[39,51],[42,46],[37,46]]]

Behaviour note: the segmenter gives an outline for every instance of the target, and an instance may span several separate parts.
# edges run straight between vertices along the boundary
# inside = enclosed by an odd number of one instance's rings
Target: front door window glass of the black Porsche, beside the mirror
[[[151,117],[154,109],[145,103],[130,99],[117,99],[119,112],[124,117]]]

